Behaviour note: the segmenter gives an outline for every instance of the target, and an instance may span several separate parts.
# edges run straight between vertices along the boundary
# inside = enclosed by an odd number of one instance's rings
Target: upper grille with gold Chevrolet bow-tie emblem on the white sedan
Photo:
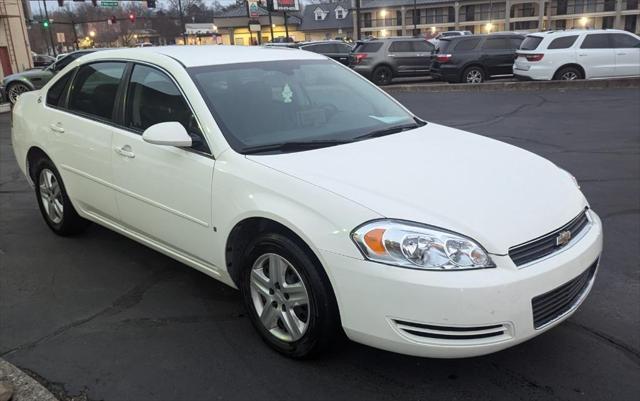
[[[547,255],[550,255],[557,250],[565,247],[589,225],[589,219],[587,217],[587,210],[585,209],[577,217],[571,220],[569,223],[560,227],[559,229],[536,238],[527,243],[516,245],[509,249],[509,256],[516,266],[522,266],[527,263],[541,259]],[[559,243],[558,239],[560,235],[570,233],[570,240],[566,243]]]

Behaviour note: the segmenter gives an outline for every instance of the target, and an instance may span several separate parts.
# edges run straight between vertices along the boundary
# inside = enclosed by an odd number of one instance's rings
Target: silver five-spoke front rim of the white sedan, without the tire
[[[251,268],[250,290],[260,321],[285,342],[302,338],[309,327],[309,294],[300,273],[285,258],[266,253]]]

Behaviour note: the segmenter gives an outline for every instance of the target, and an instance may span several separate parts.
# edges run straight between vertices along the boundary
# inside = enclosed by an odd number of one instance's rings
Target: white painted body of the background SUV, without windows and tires
[[[518,78],[532,80],[560,79],[564,67],[576,67],[584,79],[603,79],[640,76],[640,46],[616,47],[613,42],[604,48],[585,48],[585,39],[593,35],[624,35],[629,42],[640,43],[640,37],[615,29],[568,30],[530,34],[528,38],[542,38],[535,49],[517,52],[513,73]],[[573,38],[570,46],[553,48],[552,42]],[[526,39],[525,39],[526,40]],[[523,42],[525,43],[525,42]],[[552,48],[549,48],[549,46]],[[542,56],[535,61],[533,56]]]

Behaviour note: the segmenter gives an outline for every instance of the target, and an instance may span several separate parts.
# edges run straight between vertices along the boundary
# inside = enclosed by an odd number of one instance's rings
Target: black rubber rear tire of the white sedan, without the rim
[[[41,158],[36,161],[34,164],[34,174],[33,181],[36,188],[36,199],[38,201],[38,207],[40,208],[40,213],[44,218],[44,221],[47,223],[51,230],[61,236],[68,236],[79,234],[89,225],[89,222],[78,215],[75,208],[71,204],[69,200],[69,196],[67,195],[67,190],[64,187],[64,183],[62,182],[62,178],[60,177],[60,173],[58,169],[53,164],[51,160],[46,157]],[[55,219],[52,217],[47,211],[48,207],[45,206],[43,200],[43,191],[49,191],[46,188],[41,188],[41,179],[43,176],[48,175],[50,172],[55,178],[55,182],[59,188],[59,198],[57,201],[57,205],[62,205],[61,216],[59,219]],[[47,193],[45,197],[51,199],[51,193]],[[53,202],[53,201],[51,201]]]

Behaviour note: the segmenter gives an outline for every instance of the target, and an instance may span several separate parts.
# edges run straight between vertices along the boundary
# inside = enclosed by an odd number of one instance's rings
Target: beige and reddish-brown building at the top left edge
[[[0,0],[0,79],[33,67],[25,15],[29,4]]]

